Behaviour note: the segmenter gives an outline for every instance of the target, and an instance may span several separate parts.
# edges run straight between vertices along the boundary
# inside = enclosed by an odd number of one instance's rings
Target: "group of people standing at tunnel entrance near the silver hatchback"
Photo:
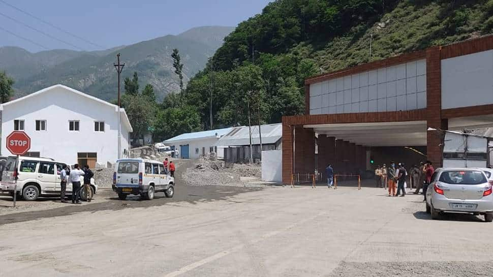
[[[433,173],[435,168],[433,163],[427,161],[426,163],[421,162],[420,166],[413,165],[410,170],[412,182],[416,186],[416,191],[414,194],[418,194],[421,189],[423,189],[424,198],[426,199],[426,189],[428,184],[432,181]],[[375,169],[375,180],[376,187],[383,188],[385,182],[388,184],[388,196],[405,196],[406,195],[406,176],[408,172],[405,168],[404,163],[399,163],[397,166],[395,162],[391,162],[390,166],[387,167],[385,164],[383,166],[378,165]]]

